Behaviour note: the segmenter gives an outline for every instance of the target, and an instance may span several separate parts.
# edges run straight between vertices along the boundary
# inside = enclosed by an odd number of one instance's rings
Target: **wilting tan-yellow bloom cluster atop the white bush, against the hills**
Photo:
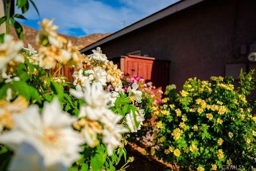
[[[40,23],[42,31],[36,37],[39,47],[39,66],[45,69],[55,68],[57,63],[68,64],[70,67],[82,68],[86,55],[79,52],[79,46],[73,46],[66,38],[57,34],[58,26],[52,25],[53,20],[44,19]]]

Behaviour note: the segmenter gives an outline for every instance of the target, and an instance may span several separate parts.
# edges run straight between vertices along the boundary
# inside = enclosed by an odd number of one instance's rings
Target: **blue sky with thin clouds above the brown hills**
[[[54,18],[58,32],[86,36],[115,32],[179,0],[34,0],[41,19],[30,6],[23,25],[39,29],[38,21]]]

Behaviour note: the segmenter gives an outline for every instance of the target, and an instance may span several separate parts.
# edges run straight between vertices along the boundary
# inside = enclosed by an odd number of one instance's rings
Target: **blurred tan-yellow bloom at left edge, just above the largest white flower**
[[[22,114],[27,110],[28,102],[22,96],[19,96],[13,102],[0,100],[0,132],[4,127],[13,128],[14,121],[12,116],[14,114]]]

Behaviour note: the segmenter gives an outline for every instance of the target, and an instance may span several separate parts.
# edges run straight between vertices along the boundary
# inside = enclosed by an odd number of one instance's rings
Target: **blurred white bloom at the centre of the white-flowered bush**
[[[80,118],[87,117],[91,120],[98,120],[103,115],[102,111],[108,107],[110,94],[103,92],[102,85],[99,83],[86,82],[83,87],[77,85],[76,90],[70,90],[70,94],[86,102],[79,111]]]

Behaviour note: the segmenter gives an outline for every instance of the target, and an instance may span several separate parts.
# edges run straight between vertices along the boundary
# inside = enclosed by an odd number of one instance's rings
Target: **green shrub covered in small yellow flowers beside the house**
[[[241,71],[241,86],[236,89],[231,77],[189,78],[179,93],[168,86],[156,119],[156,139],[165,141],[155,141],[155,155],[175,162],[180,170],[221,170],[222,165],[253,170],[256,117],[253,101],[246,99],[255,84],[253,72]]]

